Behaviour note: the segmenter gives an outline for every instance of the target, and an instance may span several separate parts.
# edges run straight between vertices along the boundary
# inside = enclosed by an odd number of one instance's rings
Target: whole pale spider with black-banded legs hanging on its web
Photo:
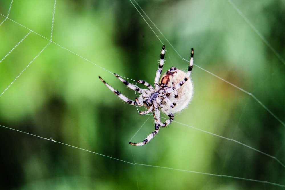
[[[193,67],[193,48],[191,48],[191,57],[188,71],[186,73],[177,69],[176,67],[171,67],[162,75],[161,79],[159,80],[164,64],[165,52],[165,45],[163,45],[160,53],[158,70],[156,71],[154,79],[154,87],[146,81],[138,80],[137,83],[143,84],[147,87],[147,89],[139,88],[137,85],[129,83],[114,73],[114,75],[127,87],[141,94],[139,97],[135,98],[135,101],[128,99],[125,95],[115,90],[99,76],[100,80],[120,99],[130,105],[144,106],[147,109],[146,111],[139,111],[139,114],[145,115],[150,112],[153,114],[155,130],[150,133],[143,140],[143,142],[129,142],[131,145],[142,146],[149,142],[158,133],[160,126],[166,127],[169,125],[173,121],[173,114],[186,108],[192,98],[193,85],[189,77]],[[169,117],[169,119],[167,119],[164,123],[160,121],[159,109]]]

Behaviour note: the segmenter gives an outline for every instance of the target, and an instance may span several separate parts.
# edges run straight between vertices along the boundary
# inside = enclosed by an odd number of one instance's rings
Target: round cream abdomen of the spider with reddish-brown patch
[[[169,87],[173,87],[182,81],[185,80],[186,73],[182,70],[179,70],[175,67],[171,67],[166,73],[164,73],[159,81],[160,90],[162,89],[168,89]],[[171,107],[171,105],[167,105],[165,103],[165,106],[172,112],[177,113],[184,108],[187,107],[189,102],[191,101],[192,95],[193,95],[193,85],[192,81],[189,78],[186,80],[186,82],[177,89],[178,96],[175,98],[175,93],[171,92],[168,94],[168,99],[170,102],[176,102],[176,105],[174,107]]]

